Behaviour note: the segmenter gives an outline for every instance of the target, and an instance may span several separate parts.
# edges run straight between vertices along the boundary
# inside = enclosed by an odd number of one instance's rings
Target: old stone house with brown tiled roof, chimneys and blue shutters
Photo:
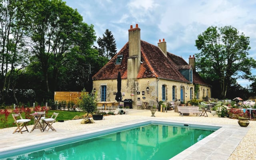
[[[210,85],[196,73],[195,57],[189,64],[180,56],[166,51],[166,42],[159,40],[158,46],[140,39],[138,24],[128,30],[129,41],[93,76],[93,88],[98,101],[115,101],[117,76],[121,73],[122,96],[136,100],[187,102],[210,95]],[[196,91],[196,92],[195,92]]]

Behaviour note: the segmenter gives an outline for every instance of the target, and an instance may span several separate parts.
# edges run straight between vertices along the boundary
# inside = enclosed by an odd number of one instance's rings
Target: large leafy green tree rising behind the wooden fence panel
[[[46,91],[49,89],[49,69],[53,68],[53,82],[56,89],[60,68],[77,41],[93,43],[93,27],[82,22],[82,16],[66,6],[61,0],[29,0],[30,18],[27,35],[30,38],[32,53],[38,58],[44,73]],[[87,33],[88,32],[88,33]],[[52,66],[51,66],[52,65]]]

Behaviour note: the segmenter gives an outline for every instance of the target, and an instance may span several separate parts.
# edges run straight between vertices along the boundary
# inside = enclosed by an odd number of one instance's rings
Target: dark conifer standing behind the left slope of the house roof
[[[97,43],[99,48],[99,54],[106,56],[108,59],[111,59],[116,54],[116,41],[112,32],[106,29],[105,33],[102,34],[102,38],[98,38]]]

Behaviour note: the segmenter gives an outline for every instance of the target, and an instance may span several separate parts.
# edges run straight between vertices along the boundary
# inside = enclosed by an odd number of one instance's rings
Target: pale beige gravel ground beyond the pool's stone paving
[[[64,123],[56,122],[54,123],[54,128],[63,128],[66,130],[81,130],[84,129],[84,125],[86,125],[87,129],[96,127],[96,126],[104,126],[106,124],[115,124],[131,121],[133,119],[136,120],[145,120],[145,119],[154,119],[154,117],[150,117],[151,112],[149,110],[135,110],[132,109],[126,115],[114,115],[114,116],[104,116],[105,120],[95,121],[94,124],[80,124],[81,120],[68,120]],[[202,122],[202,124],[213,123],[213,124],[232,124],[238,125],[237,120],[230,118],[218,118],[218,116],[212,116],[208,113],[209,117],[198,117],[195,115],[190,116],[179,116],[178,113],[173,111],[168,111],[167,113],[156,112],[155,114],[158,118],[169,119],[169,120],[184,120],[191,122]],[[234,152],[230,155],[228,160],[256,160],[256,121],[250,121],[248,126],[250,129],[247,132],[246,136],[242,139],[240,144],[236,147]],[[29,130],[31,130],[32,126],[28,126]],[[12,133],[15,127],[12,128],[3,128],[0,129],[0,133]],[[58,129],[57,129],[58,130]]]

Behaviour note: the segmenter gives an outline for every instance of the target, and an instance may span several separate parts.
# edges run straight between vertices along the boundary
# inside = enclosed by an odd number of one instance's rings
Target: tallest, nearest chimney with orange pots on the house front
[[[136,78],[140,68],[140,28],[130,26],[129,57],[127,59],[127,78]]]

